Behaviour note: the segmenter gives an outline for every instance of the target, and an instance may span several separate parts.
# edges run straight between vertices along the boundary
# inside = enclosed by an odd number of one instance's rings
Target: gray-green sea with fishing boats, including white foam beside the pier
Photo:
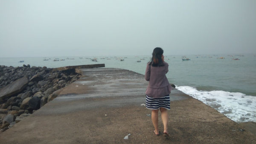
[[[177,89],[211,106],[233,121],[256,122],[255,55],[167,55],[166,74]],[[224,57],[224,59],[221,59]],[[93,58],[97,62],[92,61]],[[233,60],[239,58],[239,60]],[[58,61],[53,61],[53,60]],[[124,61],[120,61],[124,59]],[[49,68],[105,63],[107,68],[128,69],[145,74],[151,56],[0,58],[0,65],[47,66]],[[20,60],[24,62],[20,63]],[[137,62],[140,60],[141,62]]]

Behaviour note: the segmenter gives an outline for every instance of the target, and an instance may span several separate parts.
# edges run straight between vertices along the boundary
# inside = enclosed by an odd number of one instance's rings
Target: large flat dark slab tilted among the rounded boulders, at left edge
[[[12,82],[11,84],[8,84],[7,86],[0,89],[0,98],[8,98],[12,95],[21,92],[26,87],[28,82],[28,79],[26,77],[23,77]]]

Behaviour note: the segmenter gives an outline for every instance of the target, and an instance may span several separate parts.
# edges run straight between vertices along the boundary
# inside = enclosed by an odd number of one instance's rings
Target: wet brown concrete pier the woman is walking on
[[[1,133],[0,143],[256,143],[256,135],[177,89],[170,95],[170,137],[156,136],[151,111],[141,105],[144,75],[112,68],[76,72],[82,78]],[[163,131],[160,112],[159,128]]]

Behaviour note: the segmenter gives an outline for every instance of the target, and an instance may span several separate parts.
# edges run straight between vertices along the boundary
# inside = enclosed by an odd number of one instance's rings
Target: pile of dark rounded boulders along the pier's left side
[[[74,70],[0,65],[0,133],[56,98],[81,77]]]

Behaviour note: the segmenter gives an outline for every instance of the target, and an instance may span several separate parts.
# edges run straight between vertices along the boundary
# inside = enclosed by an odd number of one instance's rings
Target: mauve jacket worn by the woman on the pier
[[[164,66],[150,66],[149,63],[147,64],[145,80],[149,83],[145,93],[149,97],[160,98],[169,95],[171,92],[171,85],[166,78],[169,64],[163,63]]]

